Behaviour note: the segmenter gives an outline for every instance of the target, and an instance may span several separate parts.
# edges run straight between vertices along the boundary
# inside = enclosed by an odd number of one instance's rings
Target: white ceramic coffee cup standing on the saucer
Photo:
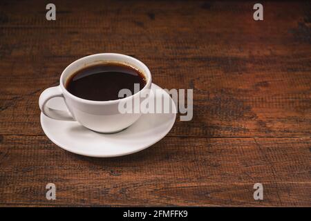
[[[66,81],[71,75],[76,73],[77,70],[87,66],[109,62],[118,62],[137,68],[146,78],[147,84],[138,93],[135,93],[130,97],[104,102],[82,99],[66,90]],[[140,93],[146,93],[144,90],[149,90],[150,88],[151,73],[142,61],[127,55],[115,53],[89,55],[74,61],[65,68],[60,77],[59,86],[47,88],[41,93],[39,97],[39,107],[42,113],[50,118],[77,121],[79,124],[82,124],[82,126],[100,133],[115,133],[131,126],[131,124],[137,121],[141,116],[141,113],[120,113],[118,109],[120,102],[124,102],[124,99],[138,98],[140,97]],[[68,111],[59,111],[48,108],[46,104],[48,100],[53,97],[63,97]],[[142,102],[141,99],[139,100]]]

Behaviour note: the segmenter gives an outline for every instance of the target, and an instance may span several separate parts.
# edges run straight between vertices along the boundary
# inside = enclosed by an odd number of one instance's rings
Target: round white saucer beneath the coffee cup
[[[169,96],[156,84],[152,84],[151,89],[153,92],[160,89],[162,96]],[[60,97],[50,99],[48,106],[66,110],[64,100]],[[46,136],[66,151],[90,157],[117,157],[142,151],[167,135],[176,119],[176,106],[173,103],[174,108],[173,113],[144,114],[129,128],[113,134],[96,133],[78,122],[51,119],[43,113],[40,119]]]

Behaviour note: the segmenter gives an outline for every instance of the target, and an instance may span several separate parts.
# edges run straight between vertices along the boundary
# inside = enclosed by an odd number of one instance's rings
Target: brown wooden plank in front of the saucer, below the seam
[[[45,136],[5,135],[0,205],[311,206],[310,146],[310,138],[166,137],[140,153],[100,159]],[[49,182],[55,201],[45,198]]]

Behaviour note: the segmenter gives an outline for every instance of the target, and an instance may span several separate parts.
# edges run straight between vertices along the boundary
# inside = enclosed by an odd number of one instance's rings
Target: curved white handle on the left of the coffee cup
[[[67,120],[67,121],[75,121],[73,118],[73,115],[70,114],[70,112],[67,111],[59,111],[53,108],[49,108],[46,106],[46,103],[49,99],[52,99],[53,97],[62,97],[64,99],[64,95],[62,93],[62,89],[60,86],[47,88],[44,90],[44,92],[41,93],[39,97],[39,108],[46,115],[47,117],[53,118],[53,119],[61,119],[61,120]]]

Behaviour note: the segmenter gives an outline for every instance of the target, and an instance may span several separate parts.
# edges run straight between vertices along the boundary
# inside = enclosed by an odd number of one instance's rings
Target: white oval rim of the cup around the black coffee
[[[84,61],[84,59],[92,58],[92,57],[98,57],[98,56],[102,56],[102,55],[105,55],[105,56],[118,56],[118,57],[123,57],[124,59],[126,59],[126,61],[129,62],[130,65],[131,65],[131,60],[136,61],[136,62],[139,64],[139,66],[142,67],[142,68],[133,65],[133,66],[135,66],[135,68],[138,68],[139,70],[145,69],[145,71],[142,71],[142,73],[143,73],[144,75],[146,75],[146,76],[145,76],[145,77],[147,78],[147,83],[146,83],[146,85],[145,85],[142,89],[140,89],[140,91],[138,91],[138,93],[135,93],[135,94],[133,94],[133,95],[131,95],[131,96],[129,96],[129,97],[123,97],[123,98],[120,98],[120,99],[113,99],[113,100],[109,100],[109,101],[93,101],[93,100],[91,100],[91,99],[83,99],[83,98],[81,98],[81,97],[77,97],[77,96],[73,95],[72,93],[70,93],[70,92],[66,89],[66,87],[64,86],[64,81],[63,81],[63,79],[64,79],[64,74],[66,73],[66,71],[68,71],[68,68],[70,68],[71,66],[73,66],[73,65],[75,65],[75,64],[77,64],[77,63],[79,63],[79,62]],[[104,60],[103,60],[103,61],[104,61]],[[106,61],[114,62],[113,59],[111,59],[111,60],[106,60]],[[122,63],[122,61],[116,61],[116,62]],[[126,64],[126,63],[124,62],[124,64]],[[129,64],[128,64],[128,65],[129,65]],[[88,56],[85,56],[85,57],[81,57],[81,58],[79,58],[79,59],[73,61],[72,63],[70,63],[68,66],[66,66],[66,68],[63,70],[62,75],[61,75],[61,77],[60,77],[60,79],[59,79],[59,85],[61,86],[63,93],[66,93],[66,95],[68,95],[69,97],[71,97],[71,98],[77,100],[78,102],[82,102],[82,103],[85,103],[85,104],[117,104],[117,103],[119,103],[119,102],[126,101],[126,99],[133,99],[133,97],[139,96],[140,93],[142,92],[142,90],[144,90],[144,89],[146,89],[146,88],[150,88],[150,86],[151,86],[151,73],[150,73],[149,68],[148,68],[144,63],[142,63],[142,61],[136,59],[135,57],[131,57],[131,56],[129,56],[129,55],[123,55],[123,54],[120,54],[120,53],[97,53],[97,54],[93,54],[93,55],[88,55]]]

